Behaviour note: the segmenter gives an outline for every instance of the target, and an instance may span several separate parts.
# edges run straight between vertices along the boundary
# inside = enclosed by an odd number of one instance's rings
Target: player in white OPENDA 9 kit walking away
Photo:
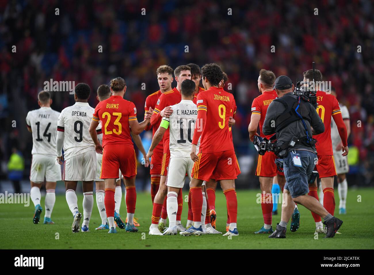
[[[64,163],[63,180],[66,188],[66,201],[73,213],[74,220],[71,226],[73,233],[79,232],[79,223],[82,214],[78,210],[78,199],[75,193],[77,182],[82,181],[83,186],[83,223],[82,231],[88,232],[89,221],[93,207],[93,180],[96,172],[95,144],[88,132],[94,109],[89,106],[88,98],[91,88],[85,83],[75,87],[73,106],[61,111],[57,121],[57,161]],[[101,127],[97,127],[100,131]],[[64,148],[64,156],[61,150]]]

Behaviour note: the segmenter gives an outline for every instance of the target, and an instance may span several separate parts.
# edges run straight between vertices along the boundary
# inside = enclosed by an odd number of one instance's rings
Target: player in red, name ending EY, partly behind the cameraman
[[[304,71],[304,83],[308,84],[313,80],[313,70]],[[317,91],[317,113],[325,125],[325,131],[319,135],[313,135],[317,140],[316,150],[318,162],[316,169],[321,179],[322,190],[324,192],[324,207],[332,216],[335,210],[334,196],[334,176],[336,175],[334,156],[331,142],[331,117],[338,127],[338,132],[342,141],[342,156],[348,155],[347,129],[341,116],[338,100],[328,92],[322,91],[322,73],[319,70],[314,72],[315,88]],[[317,181],[309,185],[309,196],[318,199]],[[323,233],[321,217],[312,212],[316,223],[316,232]]]

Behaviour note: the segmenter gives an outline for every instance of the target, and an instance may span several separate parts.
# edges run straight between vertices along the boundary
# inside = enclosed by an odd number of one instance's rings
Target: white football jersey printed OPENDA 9
[[[64,132],[64,159],[95,150],[88,129],[94,109],[86,102],[76,102],[61,111],[57,121],[58,131]],[[96,131],[100,129],[100,124]]]

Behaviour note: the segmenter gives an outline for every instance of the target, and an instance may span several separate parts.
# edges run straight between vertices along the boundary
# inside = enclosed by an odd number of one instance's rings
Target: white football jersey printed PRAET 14
[[[31,154],[56,156],[57,119],[60,113],[50,107],[29,111],[26,123],[33,132]]]

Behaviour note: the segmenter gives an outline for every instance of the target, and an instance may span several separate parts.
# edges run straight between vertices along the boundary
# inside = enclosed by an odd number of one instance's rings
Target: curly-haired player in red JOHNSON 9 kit
[[[230,228],[224,236],[237,236],[239,235],[236,226],[237,199],[233,182],[236,177],[235,154],[228,124],[232,101],[230,93],[223,88],[218,88],[223,79],[223,72],[217,64],[204,65],[201,74],[206,90],[197,95],[197,122],[191,146],[191,159],[195,162],[190,184],[193,226],[180,234],[185,236],[202,234],[201,186],[203,181],[214,178],[220,180],[230,216]],[[196,145],[200,136],[199,154],[196,155]]]

